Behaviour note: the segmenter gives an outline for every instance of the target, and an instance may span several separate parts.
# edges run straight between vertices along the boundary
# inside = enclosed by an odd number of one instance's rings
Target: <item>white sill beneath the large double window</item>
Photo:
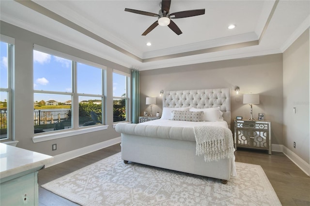
[[[63,137],[69,137],[69,136],[74,136],[78,134],[85,134],[89,132],[96,132],[96,131],[101,131],[101,130],[107,130],[109,125],[103,125],[103,126],[97,126],[97,127],[91,127],[91,128],[82,128],[78,130],[70,130],[66,132],[59,132],[59,133],[50,133],[50,134],[44,134],[42,135],[36,135],[32,137],[32,142],[37,143],[37,142],[44,142],[48,140],[53,140],[53,139],[59,139]]]

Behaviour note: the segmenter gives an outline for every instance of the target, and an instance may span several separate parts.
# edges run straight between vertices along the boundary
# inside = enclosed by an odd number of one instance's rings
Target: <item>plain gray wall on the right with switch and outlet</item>
[[[283,53],[283,145],[310,163],[309,29]],[[296,107],[296,113],[293,112]],[[293,143],[296,142],[296,148]]]

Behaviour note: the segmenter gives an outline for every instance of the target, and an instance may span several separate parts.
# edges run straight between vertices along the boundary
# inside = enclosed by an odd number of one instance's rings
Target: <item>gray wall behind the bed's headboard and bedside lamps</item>
[[[156,97],[153,114],[162,112],[162,98],[159,91],[231,88],[232,120],[236,116],[249,118],[250,107],[243,104],[245,93],[259,93],[260,104],[253,104],[253,117],[264,113],[272,123],[272,144],[283,144],[283,90],[282,54],[246,59],[233,59],[163,68],[140,72],[141,114],[148,110],[145,97]],[[235,86],[240,87],[237,95]],[[232,121],[233,122],[233,121]],[[233,128],[233,125],[231,125]]]

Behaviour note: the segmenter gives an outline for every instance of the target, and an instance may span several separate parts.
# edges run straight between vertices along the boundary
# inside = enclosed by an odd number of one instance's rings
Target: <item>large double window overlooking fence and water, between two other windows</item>
[[[48,51],[33,50],[34,133],[102,125],[103,69]]]

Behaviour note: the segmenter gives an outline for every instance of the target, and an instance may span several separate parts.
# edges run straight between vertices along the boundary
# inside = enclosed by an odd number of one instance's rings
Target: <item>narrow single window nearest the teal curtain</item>
[[[113,72],[113,122],[128,121],[129,74]]]

